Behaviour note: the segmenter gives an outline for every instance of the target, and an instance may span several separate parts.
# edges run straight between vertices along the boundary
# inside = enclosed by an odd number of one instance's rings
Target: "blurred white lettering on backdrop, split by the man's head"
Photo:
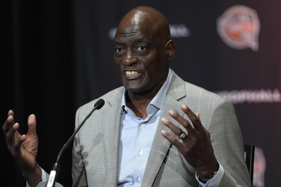
[[[170,26],[170,32],[172,38],[184,38],[189,37],[191,34],[191,31],[186,27],[184,24],[172,24]],[[112,27],[108,31],[108,38],[111,40],[114,40],[114,36],[116,33],[117,27]]]

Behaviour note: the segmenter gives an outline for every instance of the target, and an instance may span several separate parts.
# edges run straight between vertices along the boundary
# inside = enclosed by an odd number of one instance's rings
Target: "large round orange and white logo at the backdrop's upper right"
[[[257,12],[244,5],[234,5],[217,18],[217,32],[234,49],[258,51],[260,20]]]

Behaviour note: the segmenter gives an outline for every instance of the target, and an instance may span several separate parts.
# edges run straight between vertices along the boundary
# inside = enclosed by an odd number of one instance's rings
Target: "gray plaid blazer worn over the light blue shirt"
[[[104,106],[93,112],[76,134],[72,155],[73,186],[117,186],[123,91],[122,86],[100,97],[105,101]],[[76,127],[98,99],[77,110]],[[210,132],[215,156],[224,168],[219,186],[251,186],[241,131],[233,105],[212,92],[184,82],[172,71],[172,80],[160,119],[166,117],[185,131],[184,127],[168,115],[168,111],[172,109],[188,119],[181,110],[182,104],[187,105],[193,112],[199,112],[203,126]],[[175,136],[170,129],[158,122],[141,187],[199,187],[195,179],[195,169],[185,161],[180,151],[161,135],[163,129]],[[56,183],[56,186],[61,185]]]

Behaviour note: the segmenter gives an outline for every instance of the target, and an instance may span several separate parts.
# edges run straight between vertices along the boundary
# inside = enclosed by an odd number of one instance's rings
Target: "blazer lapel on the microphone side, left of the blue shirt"
[[[122,92],[123,93],[123,92]],[[112,107],[102,112],[102,133],[105,157],[106,185],[117,187],[118,184],[118,153],[121,120],[121,98],[109,99]]]

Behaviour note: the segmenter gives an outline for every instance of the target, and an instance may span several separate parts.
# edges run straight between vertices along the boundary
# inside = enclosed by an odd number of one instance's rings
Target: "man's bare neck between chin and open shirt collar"
[[[132,93],[128,91],[126,95],[126,106],[133,110],[137,117],[145,119],[148,116],[146,113],[147,106],[165,83],[167,76],[151,90],[142,93]]]

